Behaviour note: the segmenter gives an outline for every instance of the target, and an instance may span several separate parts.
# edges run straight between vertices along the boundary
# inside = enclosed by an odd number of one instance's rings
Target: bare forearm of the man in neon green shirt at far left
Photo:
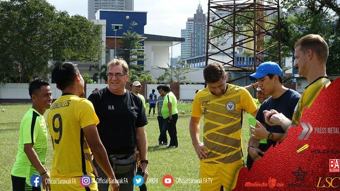
[[[47,171],[47,169],[41,164],[41,162],[38,158],[38,155],[35,153],[33,145],[34,145],[34,143],[24,144],[24,152],[27,155],[27,158],[30,160],[31,164],[34,166],[34,168],[41,175],[43,188],[47,191],[50,191],[51,186],[48,183],[48,181],[46,181],[46,179],[48,180],[50,178],[50,174],[48,172],[45,173],[45,171]]]

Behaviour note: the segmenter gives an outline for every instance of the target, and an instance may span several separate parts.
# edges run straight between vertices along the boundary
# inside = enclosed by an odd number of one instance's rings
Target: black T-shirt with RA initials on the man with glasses
[[[115,95],[107,87],[92,93],[88,100],[99,118],[97,128],[107,153],[134,153],[136,128],[148,124],[142,100],[129,90]]]

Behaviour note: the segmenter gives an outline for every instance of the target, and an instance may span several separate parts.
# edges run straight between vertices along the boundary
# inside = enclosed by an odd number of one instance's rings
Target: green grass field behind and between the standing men
[[[22,116],[31,107],[31,104],[16,104],[16,105],[0,105],[0,109],[5,109],[5,112],[0,112],[0,190],[12,190],[11,170],[17,154],[17,142],[19,135],[19,127]],[[149,106],[147,107],[149,111]],[[185,102],[178,103],[179,111],[186,111],[185,115],[180,114],[177,121],[177,136],[179,148],[168,149],[165,146],[158,146],[159,128],[157,117],[148,117],[149,124],[145,127],[148,137],[148,158],[149,158],[149,191],[198,191],[198,184],[176,184],[176,178],[191,178],[199,179],[199,159],[196,156],[194,148],[191,144],[189,133],[189,119],[191,104]],[[48,111],[46,111],[46,114]],[[244,120],[243,126],[248,127],[248,121]],[[201,133],[203,131],[203,120],[201,120]],[[169,138],[169,135],[168,135]],[[248,145],[249,134],[248,129],[242,129],[243,145]],[[202,134],[201,134],[201,141]],[[247,148],[247,146],[245,146]],[[243,149],[246,156],[247,149]],[[51,169],[51,159],[53,149],[51,141],[48,145],[46,167]],[[162,184],[164,175],[170,174],[174,177],[175,183],[166,188]],[[158,183],[157,183],[158,181]],[[138,189],[137,189],[138,190]]]

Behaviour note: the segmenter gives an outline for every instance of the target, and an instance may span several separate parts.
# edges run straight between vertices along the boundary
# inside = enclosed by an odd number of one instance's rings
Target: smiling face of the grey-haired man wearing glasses
[[[122,95],[125,93],[125,84],[129,79],[129,73],[124,73],[124,68],[121,65],[112,65],[107,70],[107,84],[109,86],[109,90],[118,95]],[[111,75],[113,76],[111,76]],[[117,77],[117,75],[119,77]],[[121,76],[120,76],[121,75]]]

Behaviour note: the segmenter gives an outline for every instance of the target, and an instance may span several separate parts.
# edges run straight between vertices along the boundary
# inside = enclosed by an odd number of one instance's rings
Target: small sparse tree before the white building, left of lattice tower
[[[182,57],[179,57],[180,59]],[[158,66],[157,66],[158,67]],[[168,82],[177,82],[177,83],[187,83],[190,82],[190,80],[187,78],[186,74],[190,72],[197,71],[198,69],[190,69],[190,64],[185,64],[183,61],[177,61],[174,66],[171,66],[168,64],[168,67],[158,67],[160,69],[165,70],[165,73],[163,76],[158,77],[158,80],[165,80]],[[171,79],[171,74],[172,77],[175,79]],[[166,77],[169,76],[169,79],[166,80]]]

